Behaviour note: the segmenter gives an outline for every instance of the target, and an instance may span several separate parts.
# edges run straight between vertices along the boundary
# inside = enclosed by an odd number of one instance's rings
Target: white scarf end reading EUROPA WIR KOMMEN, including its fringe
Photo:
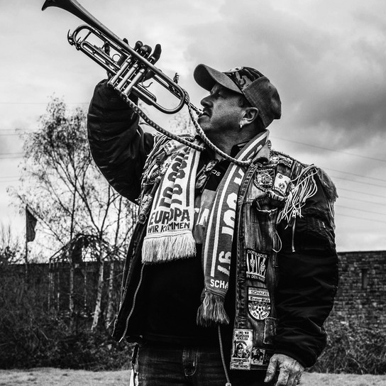
[[[173,145],[166,161],[167,170],[160,181],[150,210],[143,240],[143,263],[189,258],[196,254],[192,234],[194,223],[194,183],[199,151]],[[195,143],[201,143],[196,140]]]

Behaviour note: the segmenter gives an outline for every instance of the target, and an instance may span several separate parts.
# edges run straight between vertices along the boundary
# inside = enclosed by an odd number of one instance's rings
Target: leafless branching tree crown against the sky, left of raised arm
[[[68,111],[62,100],[53,98],[38,131],[23,139],[23,187],[12,194],[38,217],[38,230],[50,238],[48,248],[57,250],[78,233],[126,243],[130,211],[114,204],[120,196],[92,161],[84,111]]]

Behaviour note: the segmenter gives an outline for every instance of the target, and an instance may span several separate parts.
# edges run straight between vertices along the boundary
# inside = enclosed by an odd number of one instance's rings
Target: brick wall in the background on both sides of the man
[[[338,253],[340,284],[336,295],[336,302],[329,319],[340,321],[360,321],[368,326],[386,327],[386,250],[368,252]],[[114,269],[114,304],[117,307],[120,294],[122,262],[116,262]],[[9,267],[12,275],[20,278],[25,273],[24,265]],[[105,267],[105,280],[108,266]],[[55,267],[53,282],[49,280],[48,264],[31,264],[29,267],[31,284],[47,287],[51,307],[67,309],[69,307],[69,266],[63,264]],[[96,263],[82,263],[77,265],[74,277],[75,309],[87,303],[89,311],[96,297],[97,282]],[[4,272],[7,276],[11,272]],[[59,273],[60,272],[60,273]],[[84,275],[87,276],[87,290],[85,291]],[[1,275],[0,275],[1,278]],[[48,288],[50,287],[50,291]],[[60,287],[60,290],[58,291]],[[107,282],[104,291],[106,292]],[[60,292],[60,297],[58,296]],[[48,297],[48,296],[47,296]],[[104,296],[105,298],[106,296]],[[79,300],[79,302],[77,302]],[[78,304],[79,303],[79,304]],[[77,307],[78,306],[78,307]]]

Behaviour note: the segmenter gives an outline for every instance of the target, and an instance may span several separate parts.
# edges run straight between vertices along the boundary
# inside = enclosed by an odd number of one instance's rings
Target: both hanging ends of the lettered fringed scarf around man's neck
[[[256,158],[268,142],[268,134],[266,130],[255,136],[236,155],[236,159]],[[201,143],[200,140],[196,142]],[[143,240],[143,263],[160,263],[196,254],[192,228],[199,152],[185,146],[172,156],[150,209],[147,234]],[[202,256],[204,291],[197,311],[197,324],[202,326],[229,323],[224,299],[228,290],[238,191],[245,172],[246,167],[229,165],[209,215]]]

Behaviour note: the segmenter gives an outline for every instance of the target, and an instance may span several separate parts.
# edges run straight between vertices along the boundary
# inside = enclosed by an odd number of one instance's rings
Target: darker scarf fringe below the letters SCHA
[[[205,292],[204,301],[197,311],[197,324],[204,327],[229,324],[229,316],[224,309],[224,299],[217,294]]]

